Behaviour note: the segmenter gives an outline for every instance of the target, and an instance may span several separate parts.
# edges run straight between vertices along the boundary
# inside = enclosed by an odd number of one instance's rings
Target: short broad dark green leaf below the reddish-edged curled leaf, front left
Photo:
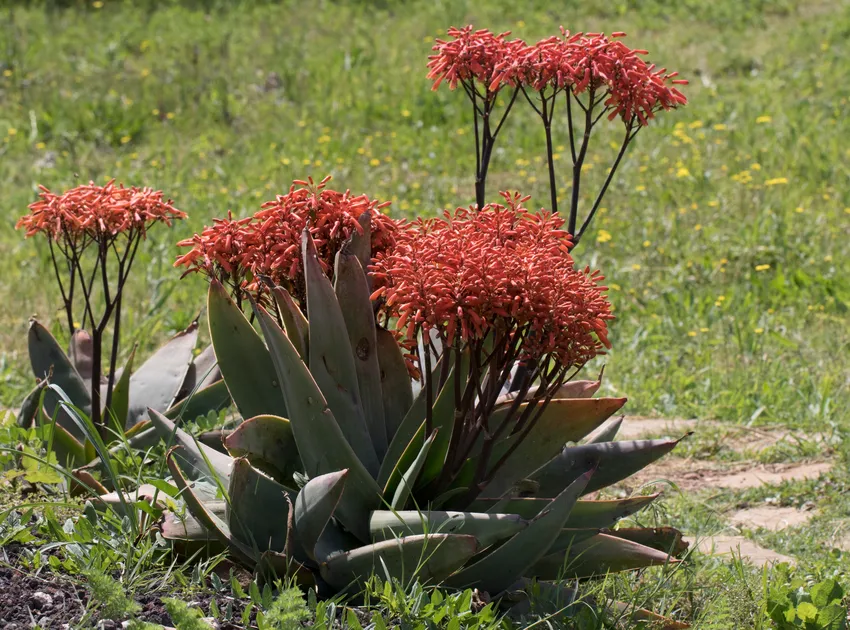
[[[239,457],[233,462],[228,494],[227,524],[236,538],[260,553],[286,550],[292,506],[286,488]]]

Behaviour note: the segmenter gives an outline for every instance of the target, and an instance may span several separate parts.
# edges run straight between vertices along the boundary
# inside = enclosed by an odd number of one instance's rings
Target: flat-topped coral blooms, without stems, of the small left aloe
[[[15,226],[25,229],[28,237],[41,233],[53,239],[85,235],[100,239],[130,231],[144,235],[153,223],[171,225],[173,219],[186,217],[170,199],[164,201],[160,191],[124,188],[116,186],[114,180],[105,186],[89,182],[61,195],[40,188],[40,199]]]

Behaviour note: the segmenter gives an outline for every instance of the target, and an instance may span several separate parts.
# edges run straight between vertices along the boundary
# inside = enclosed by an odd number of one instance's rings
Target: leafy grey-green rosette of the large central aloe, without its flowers
[[[614,441],[621,421],[609,419],[626,399],[593,398],[600,380],[549,383],[544,398],[542,382],[496,391],[494,418],[545,403],[528,431],[487,446],[507,457],[485,482],[470,481],[482,438],[437,483],[449,465],[454,403],[474,370],[464,353],[438,352],[414,395],[402,348],[375,321],[356,255],[365,228],[338,253],[333,284],[303,235],[306,317],[278,287],[276,313],[253,305],[257,332],[211,281],[213,347],[245,420],[225,434],[221,453],[150,410],[160,434],[176,440],[168,465],[188,508],[166,516],[164,537],[212,542],[249,567],[288,571],[328,592],[357,590],[378,571],[497,595],[529,579],[678,562],[675,530],[616,528],[657,494],[589,496],[678,442]]]

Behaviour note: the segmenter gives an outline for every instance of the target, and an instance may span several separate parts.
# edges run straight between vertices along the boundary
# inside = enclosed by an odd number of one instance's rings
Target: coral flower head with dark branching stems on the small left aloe
[[[186,215],[159,191],[125,188],[114,181],[105,186],[90,182],[61,195],[42,186],[39,197],[16,227],[26,230],[27,237],[47,238],[69,335],[80,327],[91,331],[92,421],[102,426],[102,410],[112,404],[124,287],[139,244],[153,224],[171,225]],[[80,303],[78,324],[74,309]],[[102,397],[103,338],[110,323],[112,347]]]

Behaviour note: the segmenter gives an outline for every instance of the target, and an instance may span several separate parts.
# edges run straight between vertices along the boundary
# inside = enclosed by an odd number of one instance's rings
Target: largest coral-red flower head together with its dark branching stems
[[[371,268],[372,297],[395,322],[411,373],[425,390],[426,435],[436,392],[454,367],[454,427],[432,496],[468,474],[465,462],[477,454],[469,486],[474,497],[534,428],[558,388],[609,347],[613,315],[604,278],[575,268],[563,219],[529,212],[523,205],[528,197],[502,196],[504,204],[459,208],[407,225]],[[529,378],[513,404],[494,414],[517,361]],[[512,445],[496,453],[507,436],[515,437]]]

